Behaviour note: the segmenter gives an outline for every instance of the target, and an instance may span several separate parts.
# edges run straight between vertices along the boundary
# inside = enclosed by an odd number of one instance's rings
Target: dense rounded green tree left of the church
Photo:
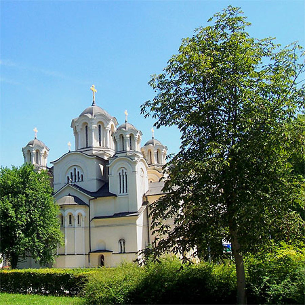
[[[62,242],[57,215],[46,171],[28,163],[0,168],[0,253],[12,268],[28,255],[40,264],[53,260]]]

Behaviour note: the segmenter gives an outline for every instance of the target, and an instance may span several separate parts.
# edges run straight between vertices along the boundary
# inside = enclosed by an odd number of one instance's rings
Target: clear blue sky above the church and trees
[[[74,147],[71,120],[91,105],[125,119],[151,138],[153,121],[140,105],[154,96],[147,82],[160,73],[181,39],[206,26],[215,12],[240,6],[251,36],[305,45],[303,0],[288,1],[0,1],[0,165],[23,163],[21,148],[34,138],[50,148],[48,163]],[[177,152],[175,127],[155,138]]]

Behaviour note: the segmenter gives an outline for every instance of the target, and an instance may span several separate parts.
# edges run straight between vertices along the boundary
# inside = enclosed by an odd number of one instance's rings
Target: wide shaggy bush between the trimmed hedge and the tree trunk
[[[123,264],[90,274],[84,295],[88,304],[235,303],[232,265],[182,265],[175,257],[144,267]]]

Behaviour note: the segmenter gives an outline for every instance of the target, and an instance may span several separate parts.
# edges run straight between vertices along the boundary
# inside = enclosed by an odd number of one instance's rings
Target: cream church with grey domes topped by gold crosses
[[[167,147],[95,103],[72,119],[75,149],[51,162],[49,148],[35,138],[22,148],[24,162],[47,170],[53,184],[64,246],[53,267],[114,267],[138,258],[153,239],[149,204],[162,196]],[[153,129],[152,129],[153,131]],[[68,145],[71,145],[68,143]],[[38,267],[31,259],[20,267]]]

